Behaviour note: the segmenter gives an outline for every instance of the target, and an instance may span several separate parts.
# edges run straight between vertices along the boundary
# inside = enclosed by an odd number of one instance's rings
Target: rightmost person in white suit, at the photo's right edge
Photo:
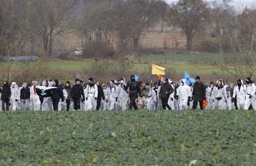
[[[245,99],[245,110],[248,110],[250,105],[253,110],[256,110],[256,100],[255,100],[255,83],[251,78],[246,78],[246,99]]]

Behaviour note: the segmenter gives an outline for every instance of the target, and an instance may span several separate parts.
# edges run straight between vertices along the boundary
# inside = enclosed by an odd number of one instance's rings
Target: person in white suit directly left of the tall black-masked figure
[[[125,90],[124,86],[126,86],[125,78],[120,79],[120,84],[118,86],[118,100],[119,100],[119,107],[121,110],[127,110],[127,101],[129,99],[129,92]]]

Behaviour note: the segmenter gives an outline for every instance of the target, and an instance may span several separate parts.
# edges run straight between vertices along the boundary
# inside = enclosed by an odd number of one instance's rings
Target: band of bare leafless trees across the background
[[[179,28],[192,50],[197,36],[201,45],[218,53],[253,53],[256,8],[237,9],[229,0],[0,0],[0,54],[55,56],[56,39],[76,33],[92,56],[118,50],[136,50],[147,28]],[[167,27],[165,25],[168,25]],[[209,40],[208,40],[209,39]]]

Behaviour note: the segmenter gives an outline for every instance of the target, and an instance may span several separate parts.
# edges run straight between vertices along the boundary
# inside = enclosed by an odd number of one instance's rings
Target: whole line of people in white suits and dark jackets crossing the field
[[[207,86],[196,76],[196,82],[187,84],[185,79],[177,82],[164,78],[155,82],[142,82],[131,75],[110,80],[106,84],[89,78],[86,83],[45,79],[42,84],[15,82],[2,83],[0,88],[2,111],[6,110],[183,110],[183,109],[253,109],[256,110],[255,83],[246,78],[237,80],[237,85],[223,80],[210,82]],[[40,92],[40,88],[44,87]],[[44,90],[48,88],[49,94]],[[52,88],[51,88],[52,87]],[[207,100],[207,105],[203,104]],[[1,108],[0,108],[1,109]]]

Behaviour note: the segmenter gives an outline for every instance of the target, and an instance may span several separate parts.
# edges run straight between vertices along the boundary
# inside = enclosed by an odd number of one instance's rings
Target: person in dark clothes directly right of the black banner
[[[53,87],[57,87],[57,90],[52,91],[52,105],[53,110],[58,110],[58,105],[61,99],[61,102],[64,101],[63,87],[59,85],[59,80],[53,80]]]

